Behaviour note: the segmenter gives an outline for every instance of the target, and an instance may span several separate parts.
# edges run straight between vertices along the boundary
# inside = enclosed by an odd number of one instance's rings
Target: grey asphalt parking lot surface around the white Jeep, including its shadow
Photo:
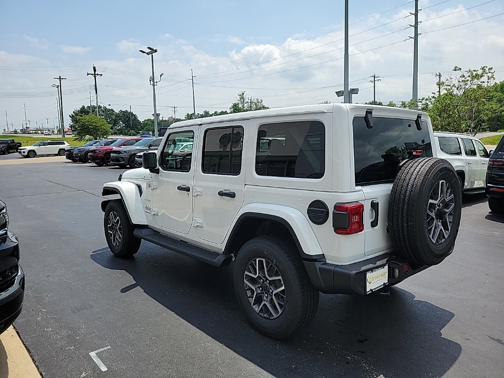
[[[15,327],[44,377],[503,376],[504,217],[484,195],[465,197],[442,264],[388,296],[321,295],[311,325],[279,342],[246,323],[232,265],[145,241],[133,259],[111,255],[101,186],[123,171],[0,157],[26,274]]]

